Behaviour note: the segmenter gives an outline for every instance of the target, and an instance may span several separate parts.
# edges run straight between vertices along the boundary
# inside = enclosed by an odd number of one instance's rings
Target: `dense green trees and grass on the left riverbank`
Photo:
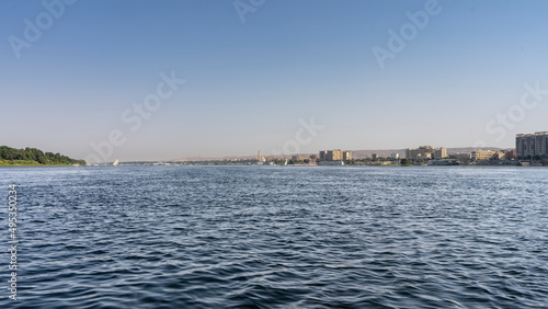
[[[85,165],[84,160],[75,160],[60,153],[44,152],[36,148],[15,149],[0,146],[0,167]]]

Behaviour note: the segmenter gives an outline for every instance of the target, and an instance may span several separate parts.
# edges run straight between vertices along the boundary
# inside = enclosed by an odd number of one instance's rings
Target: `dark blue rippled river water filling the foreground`
[[[0,168],[11,182],[1,308],[548,307],[548,169]]]

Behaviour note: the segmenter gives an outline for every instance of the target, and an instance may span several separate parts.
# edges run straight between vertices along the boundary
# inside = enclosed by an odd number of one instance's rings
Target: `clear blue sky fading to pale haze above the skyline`
[[[547,11],[3,0],[0,145],[92,161],[511,148],[548,130]]]

